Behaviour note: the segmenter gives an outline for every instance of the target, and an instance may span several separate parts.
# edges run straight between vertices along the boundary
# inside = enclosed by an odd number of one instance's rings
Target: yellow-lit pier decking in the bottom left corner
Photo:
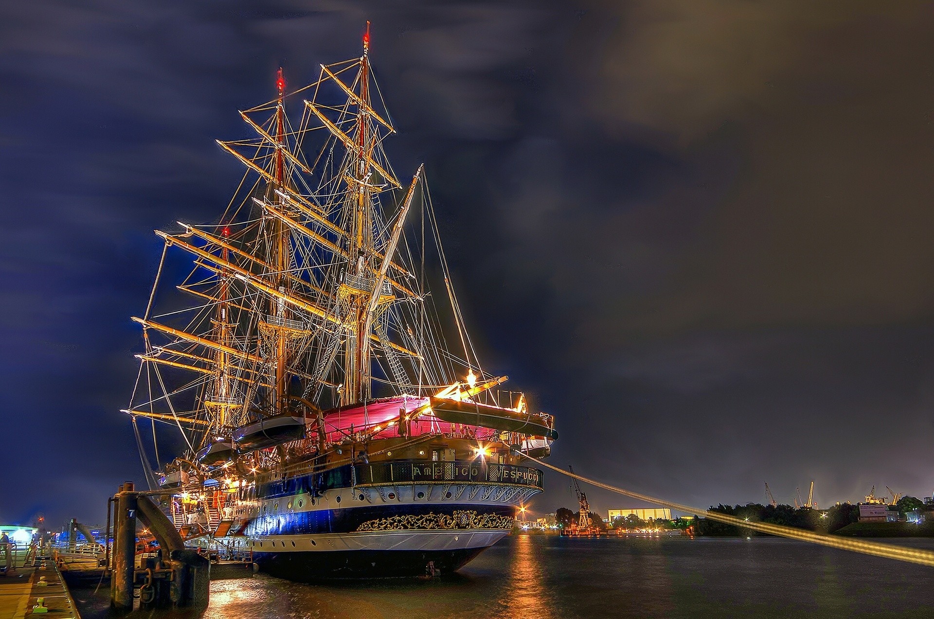
[[[44,580],[43,580],[44,579]],[[35,613],[36,598],[43,598],[48,613]],[[16,568],[0,575],[0,619],[23,619],[42,616],[80,619],[62,574],[53,561],[38,568]]]

